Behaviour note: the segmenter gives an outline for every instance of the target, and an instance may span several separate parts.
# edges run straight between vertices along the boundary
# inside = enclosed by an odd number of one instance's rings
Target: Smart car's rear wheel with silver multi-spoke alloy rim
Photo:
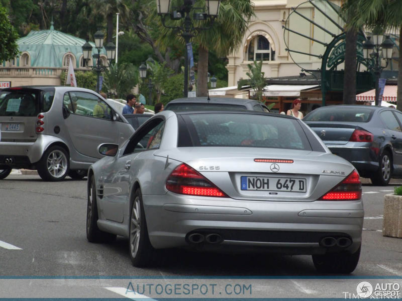
[[[70,161],[66,150],[61,146],[49,147],[39,161],[37,170],[45,181],[62,181],[68,174]]]

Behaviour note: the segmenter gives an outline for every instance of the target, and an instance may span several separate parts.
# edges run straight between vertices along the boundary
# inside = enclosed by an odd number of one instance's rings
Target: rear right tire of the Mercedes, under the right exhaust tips
[[[329,253],[324,255],[312,255],[313,263],[320,273],[350,274],[352,273],[360,258],[359,249],[354,253]]]

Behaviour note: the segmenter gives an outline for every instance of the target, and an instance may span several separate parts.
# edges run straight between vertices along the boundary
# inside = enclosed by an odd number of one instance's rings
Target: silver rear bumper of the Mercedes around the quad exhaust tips
[[[167,193],[144,195],[150,241],[155,248],[193,246],[189,234],[219,234],[219,244],[197,248],[258,248],[283,254],[354,252],[361,244],[363,204],[343,202],[240,201]],[[348,237],[347,248],[320,245],[326,236]]]

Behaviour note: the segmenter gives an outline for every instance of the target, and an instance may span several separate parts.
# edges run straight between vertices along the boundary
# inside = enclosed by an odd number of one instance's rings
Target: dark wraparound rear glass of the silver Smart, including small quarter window
[[[53,103],[53,91],[22,89],[0,92],[0,116],[37,116]]]

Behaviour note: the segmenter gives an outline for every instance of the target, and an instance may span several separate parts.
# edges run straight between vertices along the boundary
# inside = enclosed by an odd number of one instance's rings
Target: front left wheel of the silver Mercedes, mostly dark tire
[[[98,204],[96,202],[95,180],[92,178],[88,187],[88,202],[86,209],[86,239],[88,242],[110,242],[116,235],[100,231],[98,228]]]

